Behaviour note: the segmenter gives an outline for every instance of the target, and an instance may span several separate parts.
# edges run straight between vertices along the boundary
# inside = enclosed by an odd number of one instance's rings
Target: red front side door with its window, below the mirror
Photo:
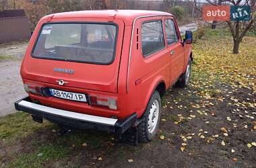
[[[173,17],[164,18],[166,43],[170,55],[170,81],[177,81],[181,73],[183,73],[184,65],[184,48],[181,43],[179,29]]]

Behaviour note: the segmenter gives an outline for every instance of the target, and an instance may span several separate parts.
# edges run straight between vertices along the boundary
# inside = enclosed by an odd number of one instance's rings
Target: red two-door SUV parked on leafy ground
[[[192,33],[182,40],[170,13],[139,10],[73,11],[40,19],[20,74],[28,97],[16,110],[61,126],[135,128],[139,142],[158,130],[160,97],[187,85]]]

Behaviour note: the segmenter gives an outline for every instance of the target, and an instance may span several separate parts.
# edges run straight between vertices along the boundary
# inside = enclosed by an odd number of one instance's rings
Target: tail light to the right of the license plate
[[[92,106],[99,106],[117,110],[117,99],[110,97],[90,96],[90,103]]]

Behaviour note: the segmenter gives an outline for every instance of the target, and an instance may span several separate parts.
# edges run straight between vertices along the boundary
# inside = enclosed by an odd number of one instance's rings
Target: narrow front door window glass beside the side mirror
[[[179,36],[177,34],[177,30],[172,19],[165,20],[165,30],[168,45],[179,42]]]

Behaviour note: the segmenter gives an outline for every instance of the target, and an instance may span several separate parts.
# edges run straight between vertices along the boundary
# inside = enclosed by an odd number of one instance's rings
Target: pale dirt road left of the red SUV
[[[28,42],[0,44],[0,117],[15,112],[13,102],[26,96],[20,77],[20,64]]]

